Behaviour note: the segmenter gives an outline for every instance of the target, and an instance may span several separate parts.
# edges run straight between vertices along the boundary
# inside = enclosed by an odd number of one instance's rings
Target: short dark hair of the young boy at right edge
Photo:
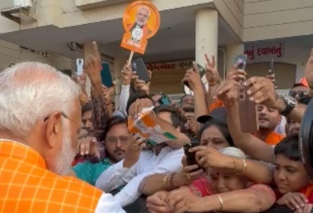
[[[284,138],[275,146],[274,153],[275,156],[281,154],[290,160],[300,161],[299,135],[290,135]]]

